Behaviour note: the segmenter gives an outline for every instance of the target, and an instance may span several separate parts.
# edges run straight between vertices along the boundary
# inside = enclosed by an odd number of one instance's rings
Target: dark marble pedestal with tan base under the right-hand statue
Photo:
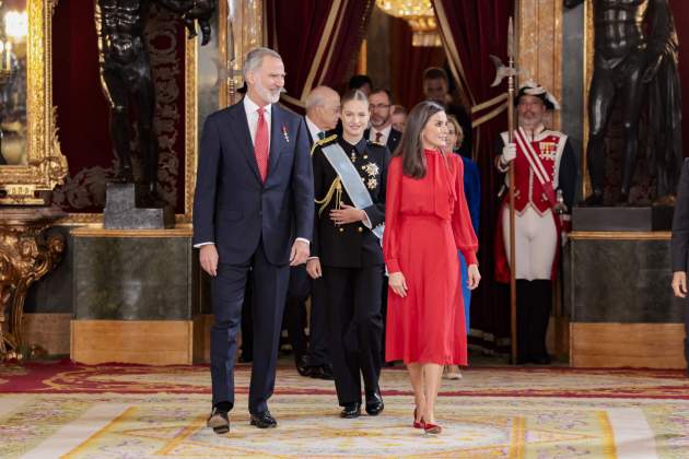
[[[668,232],[573,232],[565,282],[574,367],[684,368],[685,303]]]

